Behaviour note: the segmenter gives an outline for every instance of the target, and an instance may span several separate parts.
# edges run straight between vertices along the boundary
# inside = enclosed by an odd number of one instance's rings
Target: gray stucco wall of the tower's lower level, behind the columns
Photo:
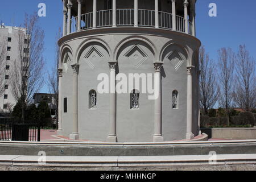
[[[71,63],[80,64],[80,138],[105,141],[108,137],[109,94],[97,94],[95,110],[88,108],[88,94],[92,89],[97,90],[97,85],[100,83],[97,81],[97,76],[100,73],[109,75],[108,61],[117,60],[117,74],[125,73],[127,77],[129,73],[152,73],[154,76],[153,63],[164,62],[162,70],[163,137],[166,141],[184,139],[187,128],[187,66],[194,64],[192,63],[193,52],[199,48],[200,42],[189,35],[166,30],[155,31],[153,28],[104,28],[102,30],[77,32],[60,40],[61,55],[65,55],[69,47],[72,53],[69,55]],[[135,48],[132,49],[133,47]],[[97,51],[92,51],[93,48]],[[144,57],[140,55],[140,50]],[[92,52],[89,53],[89,51]],[[85,58],[86,55],[87,58]],[[180,61],[182,61],[180,67],[175,69]],[[141,65],[138,66],[138,63]],[[63,113],[64,135],[68,137],[72,133],[72,71],[70,64],[67,65],[69,68],[68,72],[63,73],[61,90],[63,90],[63,98],[68,97],[68,113]],[[193,80],[196,81],[196,78]],[[174,90],[179,92],[178,109],[172,109],[171,96]],[[148,100],[147,96],[148,94],[140,94],[139,109],[131,110],[130,93],[117,94],[118,142],[152,142],[154,100]],[[195,99],[197,100],[196,97]],[[198,113],[195,104],[193,107],[195,109],[193,133],[197,135]]]

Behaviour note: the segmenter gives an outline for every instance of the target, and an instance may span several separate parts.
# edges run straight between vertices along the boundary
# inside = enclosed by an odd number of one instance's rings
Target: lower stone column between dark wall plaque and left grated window
[[[79,139],[79,127],[78,127],[78,74],[79,74],[79,64],[71,64],[73,69],[73,133],[69,135],[69,138],[73,140]]]

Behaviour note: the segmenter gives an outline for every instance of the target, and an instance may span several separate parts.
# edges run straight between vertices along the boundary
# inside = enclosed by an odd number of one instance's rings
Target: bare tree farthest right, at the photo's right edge
[[[246,46],[240,46],[236,60],[236,103],[247,111],[256,107],[255,64]]]

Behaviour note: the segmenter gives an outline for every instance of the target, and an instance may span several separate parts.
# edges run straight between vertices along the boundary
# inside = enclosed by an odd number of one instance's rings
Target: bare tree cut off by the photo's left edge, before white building
[[[5,92],[5,58],[6,58],[6,41],[4,36],[0,37],[0,97]]]

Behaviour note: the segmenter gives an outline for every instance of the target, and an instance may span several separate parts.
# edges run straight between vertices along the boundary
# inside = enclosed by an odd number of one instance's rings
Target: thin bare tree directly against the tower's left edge
[[[58,122],[58,107],[59,107],[59,59],[60,59],[60,47],[57,44],[57,41],[61,38],[61,28],[56,34],[56,44],[55,44],[55,60],[53,61],[53,67],[51,72],[48,72],[48,80],[47,85],[49,92],[53,94],[55,99],[55,115],[56,115],[56,123]]]

